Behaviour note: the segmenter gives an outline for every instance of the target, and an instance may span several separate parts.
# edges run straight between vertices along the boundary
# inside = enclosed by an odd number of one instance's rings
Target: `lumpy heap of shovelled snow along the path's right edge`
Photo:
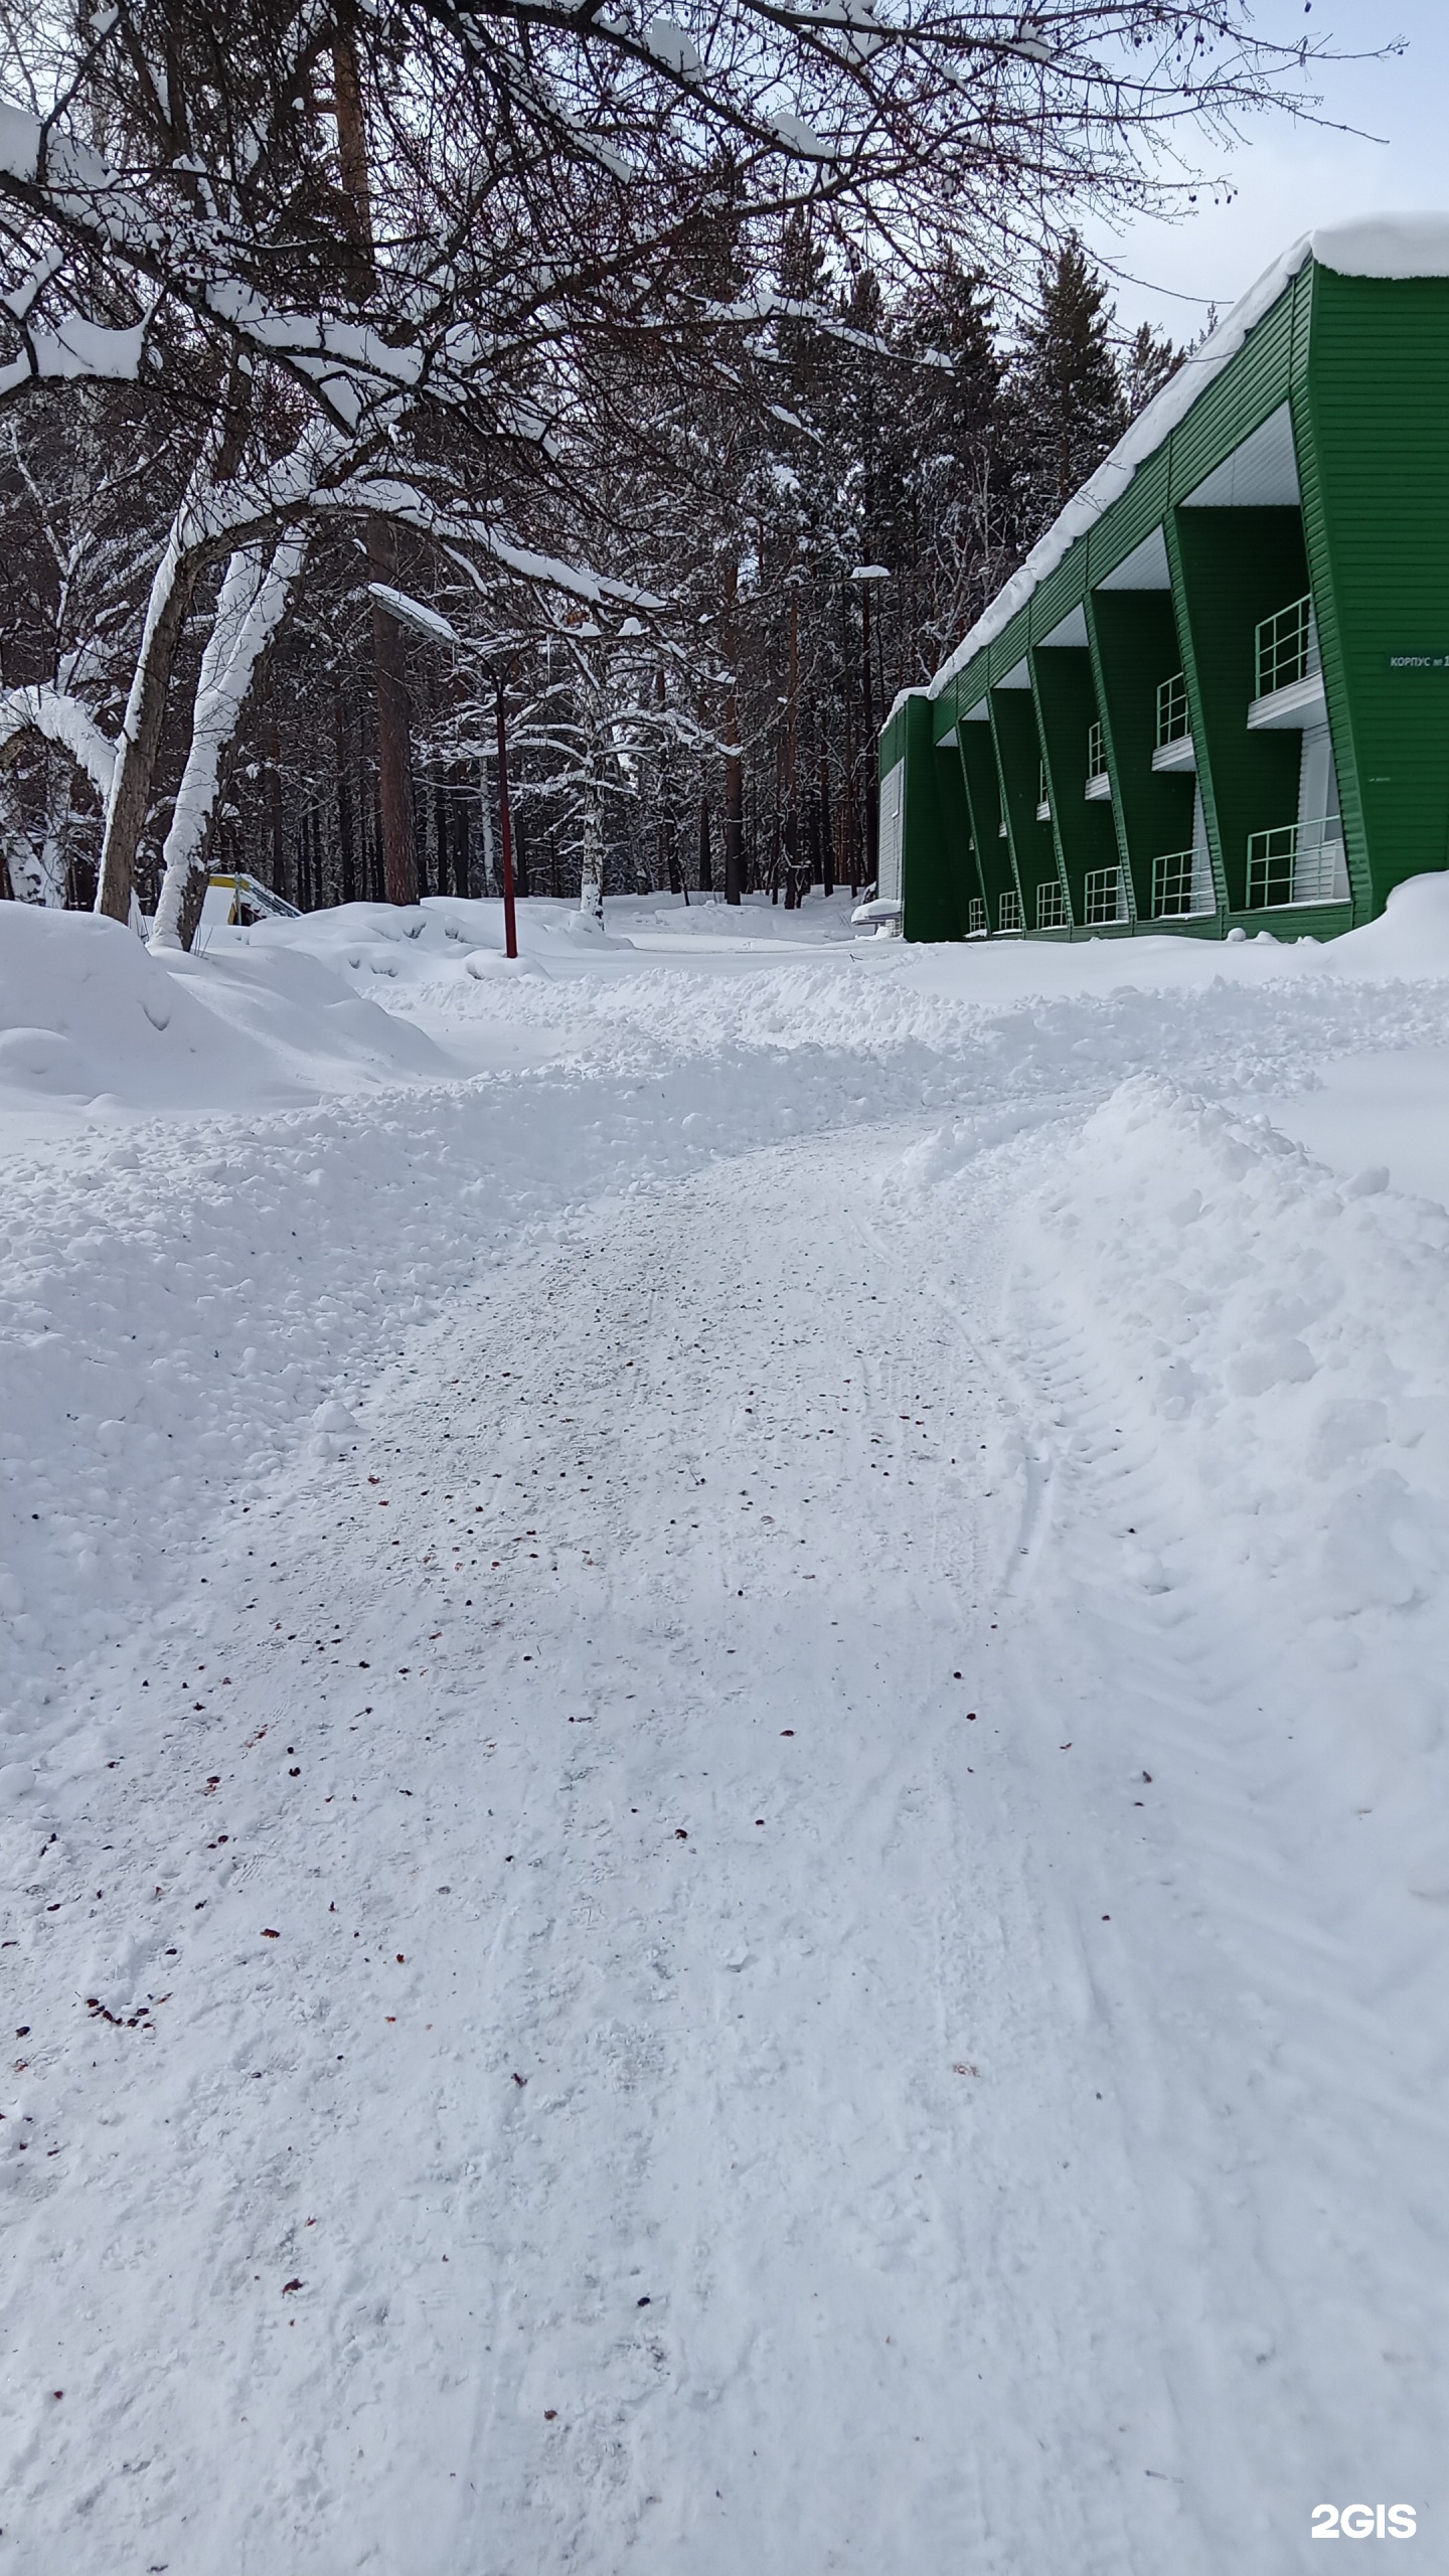
[[[1449,1208],[1142,1077],[1021,1242],[1173,1497],[1173,1546],[1122,1538],[1127,1582],[1168,1615],[1207,1584],[1263,1700],[1297,1703],[1305,1832],[1320,1801],[1372,1816],[1343,1917],[1449,1904]]]

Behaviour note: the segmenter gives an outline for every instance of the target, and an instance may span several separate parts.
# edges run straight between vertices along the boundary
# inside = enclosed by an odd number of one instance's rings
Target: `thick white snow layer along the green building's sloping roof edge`
[[[1351,224],[1320,224],[1315,232],[1302,232],[1289,250],[1263,268],[1263,276],[1245,296],[1238,299],[1232,312],[1217,325],[1214,332],[1183,358],[1176,376],[1168,379],[1160,394],[1145,412],[1137,415],[1132,428],[1116,440],[1111,456],[1096,469],[1091,482],[1073,492],[1067,507],[1052,520],[1047,536],[1036,538],[1031,554],[1013,572],[1006,590],[995,595],[990,608],[985,608],[969,634],[957,644],[954,654],[941,665],[931,680],[931,696],[938,698],[949,680],[995,636],[1011,623],[1016,611],[1031,598],[1031,592],[1057,569],[1078,536],[1111,507],[1114,500],[1127,492],[1127,484],[1137,474],[1137,466],[1147,464],[1158,453],[1163,440],[1176,430],[1178,420],[1186,420],[1196,397],[1207,392],[1214,376],[1222,374],[1230,358],[1238,355],[1243,340],[1256,322],[1279,301],[1289,278],[1318,260],[1320,268],[1333,268],[1343,278],[1446,278],[1449,276],[1449,214],[1366,214]]]

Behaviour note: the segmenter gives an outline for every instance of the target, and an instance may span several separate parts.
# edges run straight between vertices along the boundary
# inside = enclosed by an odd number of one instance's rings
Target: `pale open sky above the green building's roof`
[[[1320,113],[1356,134],[1261,118],[1235,152],[1199,149],[1199,167],[1232,180],[1232,204],[1214,206],[1204,191],[1199,211],[1178,224],[1134,224],[1124,234],[1093,227],[1098,258],[1147,281],[1116,283],[1124,322],[1150,319],[1176,340],[1196,337],[1207,301],[1225,312],[1310,224],[1449,209],[1449,0],[1312,0],[1310,13],[1302,0],[1263,0],[1258,28],[1294,44],[1312,31],[1346,54],[1377,52],[1395,36],[1408,49],[1315,70]]]

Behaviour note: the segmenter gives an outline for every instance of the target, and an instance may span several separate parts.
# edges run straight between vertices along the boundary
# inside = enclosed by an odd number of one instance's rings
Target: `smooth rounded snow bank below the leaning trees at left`
[[[317,958],[155,958],[90,912],[0,904],[0,1108],[260,1108],[454,1066]]]

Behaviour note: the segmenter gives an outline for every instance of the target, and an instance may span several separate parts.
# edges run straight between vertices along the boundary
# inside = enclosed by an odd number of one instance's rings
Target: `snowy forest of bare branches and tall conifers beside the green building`
[[[1176,363],[1073,211],[1302,59],[1235,8],[905,26],[139,0],[21,44],[5,891],[165,943],[219,868],[498,891],[500,719],[521,894],[866,884],[890,701]]]

